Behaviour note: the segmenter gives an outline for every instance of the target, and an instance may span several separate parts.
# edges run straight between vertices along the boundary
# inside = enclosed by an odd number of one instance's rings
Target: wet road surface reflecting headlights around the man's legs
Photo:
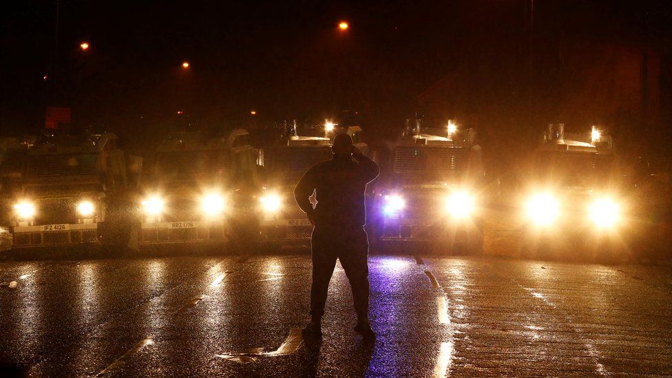
[[[340,266],[322,343],[304,255],[0,262],[0,359],[36,376],[672,375],[672,269],[370,257],[375,343]]]

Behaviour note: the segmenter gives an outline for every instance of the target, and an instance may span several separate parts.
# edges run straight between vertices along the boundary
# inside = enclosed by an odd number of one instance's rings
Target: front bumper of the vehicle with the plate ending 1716
[[[227,242],[224,221],[145,222],[140,246],[156,244],[218,244]]]

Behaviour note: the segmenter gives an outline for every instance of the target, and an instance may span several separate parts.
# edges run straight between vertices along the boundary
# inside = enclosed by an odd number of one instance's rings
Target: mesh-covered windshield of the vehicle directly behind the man
[[[271,170],[275,180],[295,183],[313,165],[329,160],[331,156],[329,146],[276,147],[273,149]]]

